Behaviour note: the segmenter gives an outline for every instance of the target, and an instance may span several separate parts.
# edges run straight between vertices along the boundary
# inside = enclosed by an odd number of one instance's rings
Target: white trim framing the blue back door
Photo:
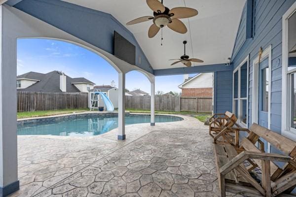
[[[271,50],[272,47],[269,45],[261,54],[260,62],[268,58],[268,129],[270,130],[271,120]],[[259,63],[259,55],[253,61],[253,95],[252,95],[252,124],[257,123],[259,119],[259,67],[256,65]],[[258,65],[259,66],[259,65]],[[270,144],[268,142],[267,152],[270,153]]]

